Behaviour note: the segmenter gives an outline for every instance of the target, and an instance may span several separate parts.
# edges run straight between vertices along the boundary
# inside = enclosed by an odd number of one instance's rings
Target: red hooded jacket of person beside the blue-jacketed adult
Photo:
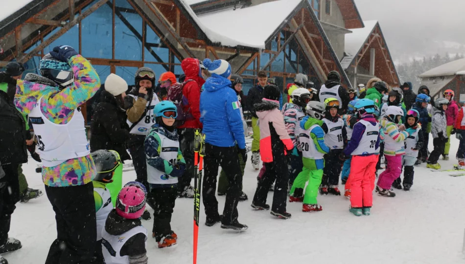
[[[200,77],[200,63],[199,60],[193,58],[186,58],[181,63],[184,74],[186,74],[187,80],[194,80],[194,82],[188,82],[183,88],[183,95],[187,98],[188,105],[185,106],[185,111],[189,110],[194,119],[186,120],[179,129],[182,128],[202,128],[200,123],[200,88],[204,85],[205,80]]]

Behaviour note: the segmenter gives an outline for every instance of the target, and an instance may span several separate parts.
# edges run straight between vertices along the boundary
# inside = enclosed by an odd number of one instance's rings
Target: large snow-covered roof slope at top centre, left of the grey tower
[[[210,41],[225,46],[241,45],[256,48],[265,48],[265,41],[302,2],[302,0],[277,0],[197,17],[188,4],[194,0],[180,1]]]

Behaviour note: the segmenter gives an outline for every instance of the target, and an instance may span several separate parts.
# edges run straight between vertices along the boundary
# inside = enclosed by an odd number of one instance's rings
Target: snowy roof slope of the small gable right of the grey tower
[[[365,27],[350,29],[352,33],[346,34],[344,51],[346,56],[342,59],[341,65],[347,69],[352,63],[353,59],[367,42],[370,33],[378,23],[377,20],[364,21]]]

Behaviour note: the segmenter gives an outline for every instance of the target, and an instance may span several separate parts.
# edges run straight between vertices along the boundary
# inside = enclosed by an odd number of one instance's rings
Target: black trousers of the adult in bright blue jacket
[[[202,196],[207,220],[219,219],[218,201],[215,194],[218,168],[221,166],[229,181],[222,223],[231,224],[237,221],[237,202],[241,194],[242,173],[236,147],[218,147],[206,143],[204,166],[205,177],[202,182]]]

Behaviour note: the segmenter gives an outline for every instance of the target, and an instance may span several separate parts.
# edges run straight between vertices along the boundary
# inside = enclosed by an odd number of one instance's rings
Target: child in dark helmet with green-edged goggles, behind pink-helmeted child
[[[110,190],[106,188],[113,182],[116,168],[121,164],[121,159],[116,151],[98,150],[91,153],[97,175],[93,178],[93,198],[95,199],[95,218],[97,220],[97,244],[95,246],[94,259],[97,263],[103,263],[102,254],[102,230],[108,214],[113,209]]]

